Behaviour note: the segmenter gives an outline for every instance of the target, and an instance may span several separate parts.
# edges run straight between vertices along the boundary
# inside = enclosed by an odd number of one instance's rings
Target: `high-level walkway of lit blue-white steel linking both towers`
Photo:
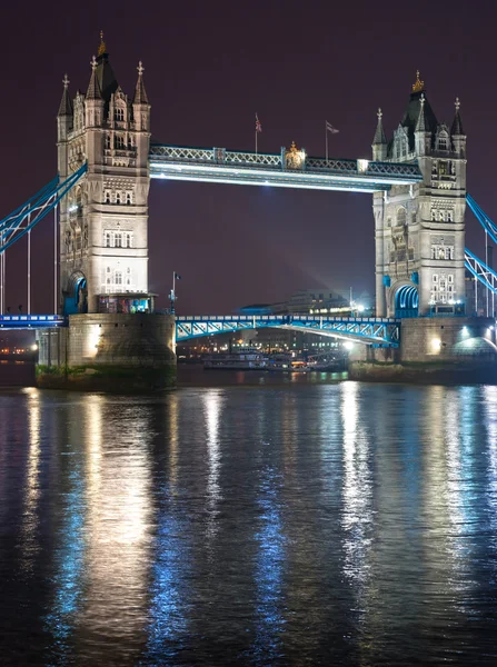
[[[255,153],[225,148],[150,147],[151,178],[374,192],[423,180],[417,165],[311,158],[304,151]]]

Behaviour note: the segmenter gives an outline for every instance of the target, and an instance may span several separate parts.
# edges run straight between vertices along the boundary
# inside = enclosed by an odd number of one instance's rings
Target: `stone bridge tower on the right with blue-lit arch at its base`
[[[451,127],[439,123],[417,72],[390,141],[378,112],[372,158],[417,162],[423,173],[419,185],[374,195],[377,315],[464,312],[466,136],[459,100]]]

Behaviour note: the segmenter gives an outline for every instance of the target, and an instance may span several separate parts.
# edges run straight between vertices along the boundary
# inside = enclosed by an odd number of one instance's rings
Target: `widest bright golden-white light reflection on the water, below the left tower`
[[[88,514],[81,625],[113,660],[145,639],[151,546],[151,415],[147,405],[89,397],[83,408]],[[136,647],[136,648],[135,648]]]

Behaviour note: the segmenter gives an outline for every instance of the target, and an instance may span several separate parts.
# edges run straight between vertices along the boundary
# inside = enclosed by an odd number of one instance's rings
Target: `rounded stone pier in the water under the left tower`
[[[175,317],[73,315],[37,334],[37,386],[82,391],[160,391],[176,382]]]

